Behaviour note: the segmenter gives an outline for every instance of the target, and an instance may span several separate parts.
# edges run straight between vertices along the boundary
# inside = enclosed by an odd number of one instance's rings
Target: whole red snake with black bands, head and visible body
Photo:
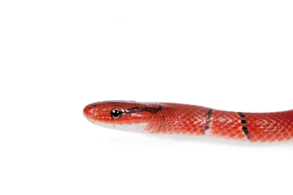
[[[178,103],[103,101],[85,106],[84,117],[106,128],[151,134],[208,135],[251,142],[293,139],[293,110],[237,113]]]

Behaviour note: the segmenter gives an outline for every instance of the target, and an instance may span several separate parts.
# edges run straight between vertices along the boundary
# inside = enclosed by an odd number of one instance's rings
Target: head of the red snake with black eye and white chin
[[[162,107],[158,103],[103,101],[85,106],[84,117],[101,127],[142,132],[150,127],[150,123],[156,121],[156,118],[162,118],[161,110]]]

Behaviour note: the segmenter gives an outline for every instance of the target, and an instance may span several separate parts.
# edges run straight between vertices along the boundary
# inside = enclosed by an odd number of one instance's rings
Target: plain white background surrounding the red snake
[[[0,2],[1,195],[292,194],[293,144],[100,128],[88,103],[293,108],[288,0]]]

